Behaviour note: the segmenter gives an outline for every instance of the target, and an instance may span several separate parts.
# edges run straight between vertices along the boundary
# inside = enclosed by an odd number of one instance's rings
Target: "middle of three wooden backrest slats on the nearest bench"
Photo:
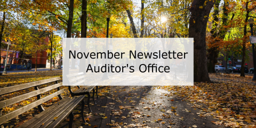
[[[13,103],[17,103],[19,101],[28,99],[30,97],[34,97],[38,94],[50,91],[50,90],[55,89],[55,88],[57,88],[61,85],[62,85],[62,83],[54,84],[54,85],[51,85],[51,86],[44,87],[43,89],[40,89],[40,90],[36,90],[36,91],[33,91],[33,92],[22,94],[22,95],[19,95],[17,97],[14,97],[14,98],[11,98],[11,99],[8,99],[8,100],[0,101],[0,108],[4,108],[6,106],[12,105]]]

